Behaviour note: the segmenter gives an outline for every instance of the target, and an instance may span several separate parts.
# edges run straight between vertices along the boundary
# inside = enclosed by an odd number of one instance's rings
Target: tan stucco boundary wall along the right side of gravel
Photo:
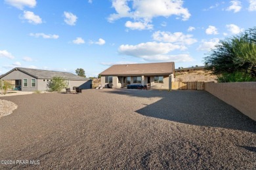
[[[205,90],[256,121],[256,82],[205,82]]]

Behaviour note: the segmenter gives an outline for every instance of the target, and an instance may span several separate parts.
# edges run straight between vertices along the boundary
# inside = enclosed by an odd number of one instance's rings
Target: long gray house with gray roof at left
[[[0,80],[9,80],[14,82],[16,89],[24,92],[33,92],[35,90],[49,90],[47,84],[54,76],[62,76],[68,88],[89,89],[92,88],[92,80],[68,72],[48,71],[39,69],[26,69],[17,67],[0,76]]]

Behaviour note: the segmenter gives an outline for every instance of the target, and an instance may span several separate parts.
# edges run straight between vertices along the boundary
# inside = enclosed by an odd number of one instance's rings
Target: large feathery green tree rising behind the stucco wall
[[[238,78],[238,75],[246,77],[249,75],[255,80],[256,27],[248,29],[240,35],[219,41],[215,47],[204,58],[206,68],[213,70],[213,74],[232,77],[232,80]],[[244,80],[248,80],[248,78]]]

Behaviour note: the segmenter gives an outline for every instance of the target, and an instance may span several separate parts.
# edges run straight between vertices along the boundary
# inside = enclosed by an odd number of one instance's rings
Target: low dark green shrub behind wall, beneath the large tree
[[[249,73],[236,71],[234,73],[223,73],[218,76],[218,82],[254,82],[255,78],[251,77]]]

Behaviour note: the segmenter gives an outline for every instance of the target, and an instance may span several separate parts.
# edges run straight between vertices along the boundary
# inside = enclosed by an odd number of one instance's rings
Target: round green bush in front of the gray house
[[[47,84],[47,87],[51,92],[60,92],[62,89],[67,88],[68,84],[62,76],[54,76]]]

